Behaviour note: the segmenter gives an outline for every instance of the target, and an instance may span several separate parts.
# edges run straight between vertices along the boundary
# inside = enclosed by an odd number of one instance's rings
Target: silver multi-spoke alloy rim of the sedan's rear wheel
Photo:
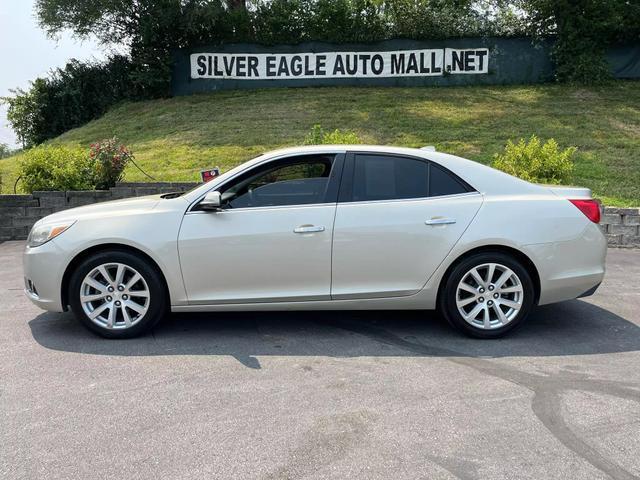
[[[456,306],[473,327],[493,330],[510,323],[522,308],[518,275],[499,263],[483,263],[465,273],[456,289]]]

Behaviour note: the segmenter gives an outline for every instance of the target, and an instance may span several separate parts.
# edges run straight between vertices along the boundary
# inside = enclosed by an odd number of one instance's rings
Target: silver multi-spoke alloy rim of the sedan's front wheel
[[[107,329],[137,324],[149,309],[144,277],[129,265],[104,263],[91,270],[80,286],[80,304],[87,317]]]

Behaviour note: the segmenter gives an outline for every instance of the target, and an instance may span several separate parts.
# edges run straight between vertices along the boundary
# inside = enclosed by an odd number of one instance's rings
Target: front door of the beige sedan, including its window
[[[288,157],[219,188],[219,212],[185,214],[178,249],[189,302],[327,300],[343,154]]]

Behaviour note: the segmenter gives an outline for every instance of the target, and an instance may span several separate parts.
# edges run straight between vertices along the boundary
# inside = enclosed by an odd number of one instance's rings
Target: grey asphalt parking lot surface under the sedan
[[[430,312],[172,315],[108,341],[0,244],[0,478],[640,477],[640,252],[511,336]]]

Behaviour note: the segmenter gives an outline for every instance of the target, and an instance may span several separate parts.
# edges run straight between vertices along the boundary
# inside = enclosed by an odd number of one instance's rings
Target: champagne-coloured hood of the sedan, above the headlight
[[[109,202],[93,203],[82,207],[62,210],[44,217],[38,224],[66,220],[81,220],[85,217],[113,217],[119,215],[131,215],[152,210],[161,200],[161,195],[148,195],[144,197],[125,198]]]

